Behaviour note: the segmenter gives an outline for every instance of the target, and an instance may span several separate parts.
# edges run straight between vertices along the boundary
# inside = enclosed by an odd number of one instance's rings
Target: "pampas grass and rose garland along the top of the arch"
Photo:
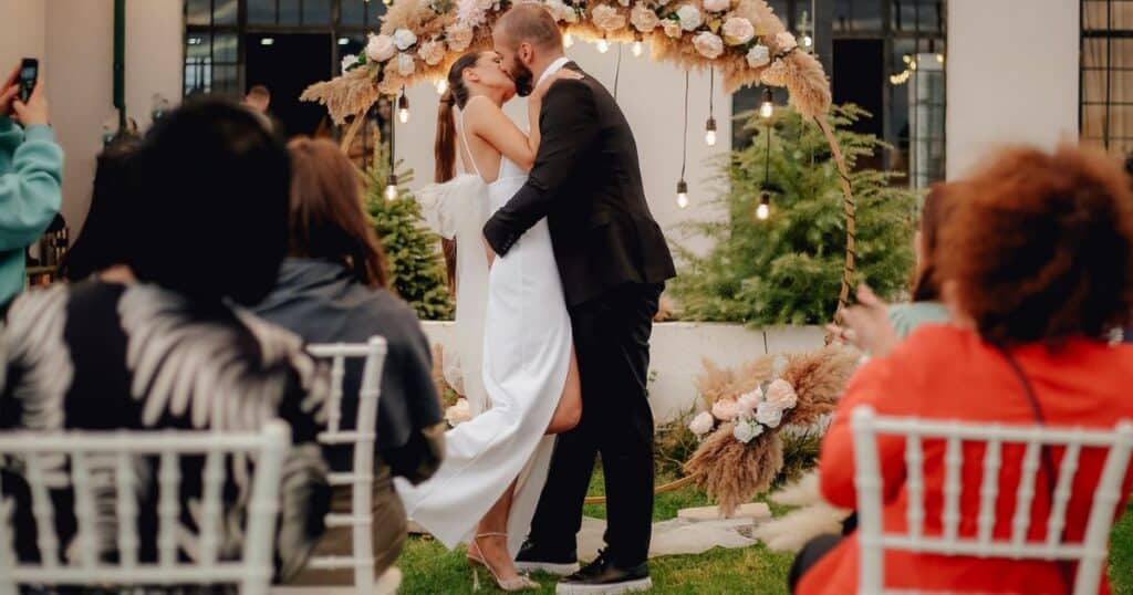
[[[529,0],[546,7],[568,34],[649,42],[653,56],[683,68],[715,68],[733,92],[743,85],[785,86],[807,117],[823,114],[830,90],[821,65],[801,51],[765,0]],[[343,74],[301,99],[326,105],[335,124],[382,94],[421,79],[444,79],[466,51],[489,48],[492,26],[511,0],[397,0],[365,51],[346,57]]]

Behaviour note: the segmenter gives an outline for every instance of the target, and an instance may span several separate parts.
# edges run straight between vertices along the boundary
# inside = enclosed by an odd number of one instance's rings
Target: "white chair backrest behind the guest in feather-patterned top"
[[[0,434],[0,461],[18,466],[17,474],[27,483],[39,562],[20,562],[15,552],[12,516],[15,500],[0,496],[0,595],[15,595],[18,585],[205,585],[232,583],[240,593],[267,592],[272,578],[272,552],[283,457],[291,442],[288,425],[274,420],[258,433],[213,431],[148,432],[12,432]],[[241,456],[255,461],[255,475],[247,508],[242,555],[222,560],[225,459]],[[138,488],[135,462],[139,457],[157,461],[156,561],[139,560]],[[181,515],[181,458],[204,457],[199,542],[196,560],[178,555]],[[62,465],[60,465],[62,464]],[[56,534],[56,509],[51,490],[60,487],[58,469],[67,469],[62,485],[74,492],[77,521],[75,543],[68,552],[77,555],[61,562]],[[96,510],[95,473],[113,476],[114,505],[110,512]],[[103,560],[99,552],[99,525],[112,513],[117,525],[116,561]],[[113,529],[111,529],[113,530]],[[77,559],[75,559],[77,558]]]

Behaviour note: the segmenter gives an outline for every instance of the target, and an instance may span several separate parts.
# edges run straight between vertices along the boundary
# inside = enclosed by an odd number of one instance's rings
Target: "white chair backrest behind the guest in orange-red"
[[[1133,424],[1119,422],[1113,431],[1057,428],[1038,425],[969,424],[876,415],[868,406],[855,407],[851,419],[854,442],[854,483],[858,491],[858,532],[861,542],[861,593],[880,593],[885,578],[885,550],[905,550],[944,555],[973,555],[1014,560],[1077,561],[1075,595],[1094,595],[1106,562],[1109,530],[1121,500],[1122,482],[1133,449]],[[905,439],[905,488],[908,534],[885,533],[881,526],[881,473],[877,450],[878,435]],[[945,484],[942,535],[925,535],[923,441],[945,442]],[[961,466],[964,443],[986,444],[982,481],[979,486],[977,537],[959,536]],[[1011,538],[993,535],[996,522],[996,500],[999,493],[999,468],[1005,444],[1021,444],[1023,451],[1015,511],[1011,519]],[[1028,541],[1031,504],[1036,495],[1036,477],[1045,447],[1064,447],[1065,454],[1057,471],[1053,502],[1047,518],[1043,542]],[[1070,504],[1079,456],[1083,448],[1108,449],[1101,477],[1093,492],[1089,520],[1081,543],[1063,542],[1066,510]],[[1048,481],[1055,481],[1050,478]]]

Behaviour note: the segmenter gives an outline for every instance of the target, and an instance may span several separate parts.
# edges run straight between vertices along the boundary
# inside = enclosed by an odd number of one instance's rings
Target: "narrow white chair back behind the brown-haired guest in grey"
[[[350,527],[352,551],[349,556],[315,556],[307,563],[313,569],[353,569],[355,589],[369,595],[374,588],[374,542],[370,526],[374,522],[374,448],[377,430],[377,399],[382,392],[382,368],[385,364],[386,343],[372,337],[365,343],[310,345],[310,355],[331,360],[331,398],[327,402],[327,430],[320,434],[323,444],[351,444],[351,469],[332,473],[332,486],[351,486],[350,513],[331,512],[326,526]],[[365,358],[358,388],[358,416],[353,430],[342,430],[342,382],[346,379],[347,358]]]

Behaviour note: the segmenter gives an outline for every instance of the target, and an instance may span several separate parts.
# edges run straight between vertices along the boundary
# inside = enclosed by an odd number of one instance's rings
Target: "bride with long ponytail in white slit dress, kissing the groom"
[[[446,184],[419,193],[431,224],[457,240],[457,340],[446,359],[459,358],[462,390],[483,413],[448,433],[431,481],[399,483],[398,491],[411,519],[450,549],[468,543],[469,562],[486,567],[504,590],[538,588],[512,560],[546,481],[551,435],[578,424],[582,402],[546,221],[491,269],[482,229],[527,181],[543,96],[561,78],[581,76],[563,69],[538,85],[525,135],[502,109],[516,84],[500,56],[458,59],[437,117],[436,173]],[[458,154],[469,173],[455,176]]]

